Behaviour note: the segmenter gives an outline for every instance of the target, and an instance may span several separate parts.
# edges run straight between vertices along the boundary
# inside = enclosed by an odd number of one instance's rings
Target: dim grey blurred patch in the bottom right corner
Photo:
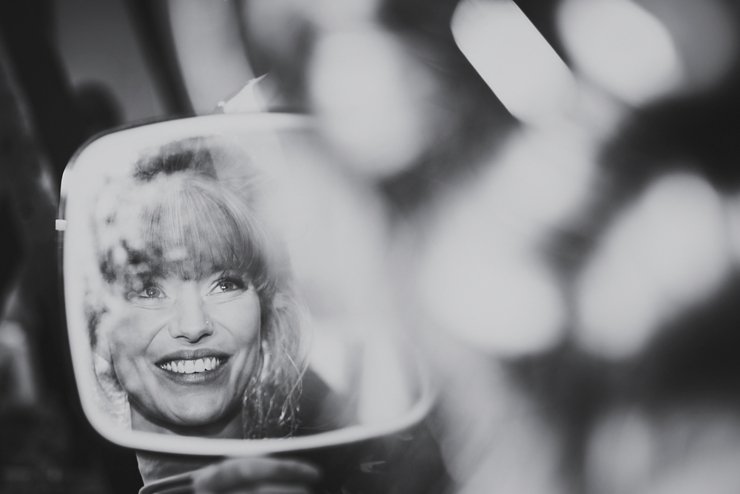
[[[740,422],[727,411],[620,410],[589,443],[586,483],[594,494],[731,494],[738,460]]]

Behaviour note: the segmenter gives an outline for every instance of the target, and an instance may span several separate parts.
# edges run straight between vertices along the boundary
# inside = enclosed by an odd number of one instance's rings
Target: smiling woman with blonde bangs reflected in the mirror
[[[328,425],[299,418],[302,385],[323,385],[305,373],[287,261],[258,220],[245,160],[175,143],[101,192],[96,374],[109,396],[122,392],[134,429],[261,438]]]

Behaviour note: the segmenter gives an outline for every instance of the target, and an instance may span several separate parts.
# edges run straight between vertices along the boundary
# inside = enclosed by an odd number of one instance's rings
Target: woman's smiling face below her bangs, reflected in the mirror
[[[134,412],[165,427],[237,416],[260,348],[260,301],[245,274],[167,275],[115,299],[107,341]]]

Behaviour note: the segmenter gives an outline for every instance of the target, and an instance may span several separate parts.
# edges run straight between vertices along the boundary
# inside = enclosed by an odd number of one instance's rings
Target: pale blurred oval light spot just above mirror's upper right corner
[[[431,145],[435,82],[398,41],[377,30],[325,34],[309,91],[327,139],[370,177],[397,174]]]

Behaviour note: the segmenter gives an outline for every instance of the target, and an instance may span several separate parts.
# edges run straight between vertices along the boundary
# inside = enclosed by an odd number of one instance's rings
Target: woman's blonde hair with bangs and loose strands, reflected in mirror
[[[254,285],[262,327],[259,370],[242,397],[246,438],[295,432],[306,369],[289,263],[258,221],[258,186],[254,166],[234,144],[186,139],[142,157],[128,181],[108,192],[111,207],[100,208],[94,225],[100,274],[124,291],[153,277],[199,279],[218,270],[242,273]],[[93,345],[100,317],[91,311]]]

